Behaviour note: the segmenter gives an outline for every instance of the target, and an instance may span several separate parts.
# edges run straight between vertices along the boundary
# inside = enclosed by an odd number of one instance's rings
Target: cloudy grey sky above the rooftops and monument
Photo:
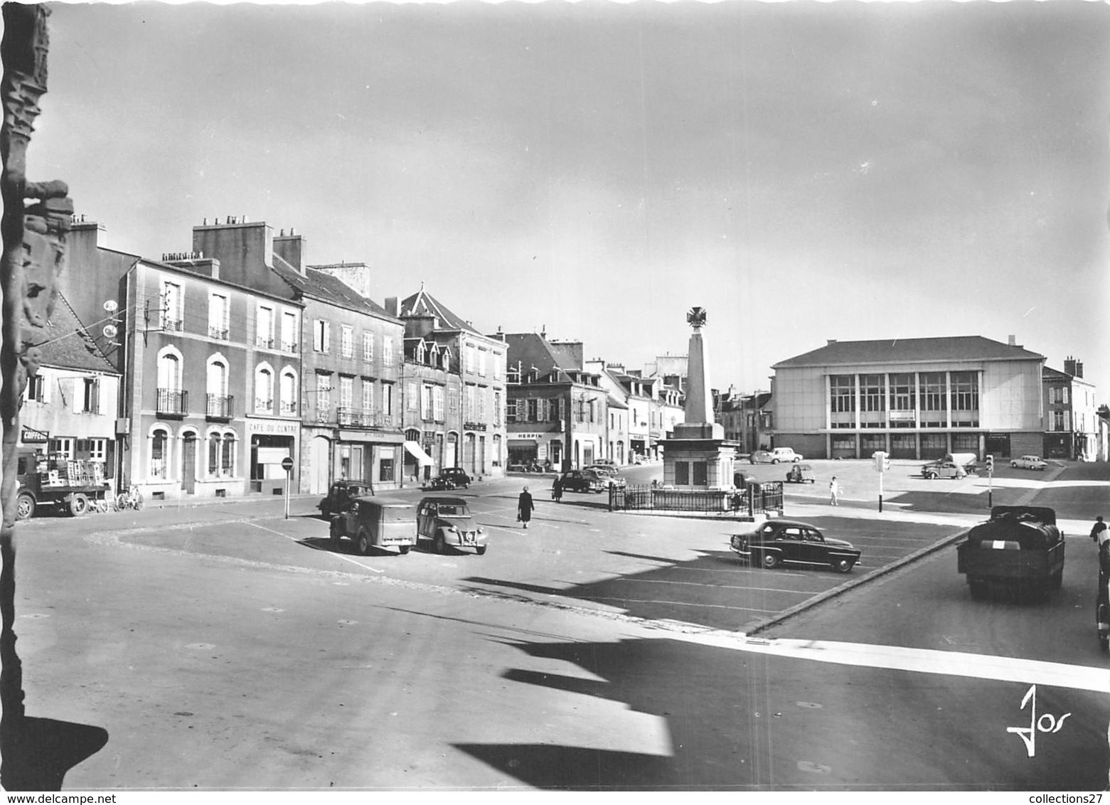
[[[483,332],[714,388],[840,341],[1073,355],[1110,401],[1110,6],[57,4],[29,178],[159,259],[294,229]]]

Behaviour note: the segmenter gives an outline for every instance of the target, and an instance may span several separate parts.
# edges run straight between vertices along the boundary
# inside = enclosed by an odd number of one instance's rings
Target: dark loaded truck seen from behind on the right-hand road
[[[1009,587],[1043,597],[1063,582],[1063,533],[1048,506],[995,506],[956,546],[972,598]]]

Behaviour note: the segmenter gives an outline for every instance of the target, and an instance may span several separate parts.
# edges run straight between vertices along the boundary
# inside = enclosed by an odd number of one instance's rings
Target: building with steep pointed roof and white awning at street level
[[[396,309],[405,328],[406,474],[457,466],[476,477],[503,476],[505,342],[482,334],[423,286],[385,306]]]

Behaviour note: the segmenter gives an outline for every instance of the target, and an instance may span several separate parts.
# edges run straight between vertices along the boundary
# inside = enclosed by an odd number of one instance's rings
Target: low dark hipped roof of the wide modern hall
[[[771,365],[828,366],[861,363],[921,363],[934,361],[1031,361],[1045,355],[1023,346],[1010,346],[981,335],[949,335],[934,339],[890,339],[884,341],[834,341]]]

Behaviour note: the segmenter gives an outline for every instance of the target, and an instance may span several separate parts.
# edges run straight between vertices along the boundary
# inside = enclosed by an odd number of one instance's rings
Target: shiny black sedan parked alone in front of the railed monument
[[[840,573],[850,571],[860,553],[851,543],[827,537],[796,520],[768,520],[750,533],[733,534],[731,549],[741,560],[768,568],[786,562]]]

